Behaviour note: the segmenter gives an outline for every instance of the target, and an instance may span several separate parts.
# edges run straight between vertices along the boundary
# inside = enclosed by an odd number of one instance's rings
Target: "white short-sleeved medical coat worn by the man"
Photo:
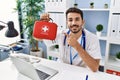
[[[67,32],[68,29],[65,31]],[[100,44],[97,36],[86,29],[84,29],[84,32],[85,32],[85,38],[86,38],[85,48],[87,53],[90,56],[92,56],[94,59],[101,59]],[[62,34],[62,32],[59,32],[57,35],[57,40],[60,48],[59,61],[70,64],[70,47],[68,46],[67,42],[64,46],[63,44],[64,37],[65,36],[64,34]],[[81,37],[78,39],[78,41],[80,42],[80,40],[81,40]],[[72,55],[74,56],[76,53],[77,51],[72,48]],[[79,55],[72,61],[73,61],[73,65],[87,67]]]

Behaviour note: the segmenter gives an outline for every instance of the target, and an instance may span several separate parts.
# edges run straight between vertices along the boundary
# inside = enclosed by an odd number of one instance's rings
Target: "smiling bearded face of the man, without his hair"
[[[82,20],[80,14],[78,13],[68,13],[67,15],[67,26],[72,33],[78,33],[82,30],[84,20]]]

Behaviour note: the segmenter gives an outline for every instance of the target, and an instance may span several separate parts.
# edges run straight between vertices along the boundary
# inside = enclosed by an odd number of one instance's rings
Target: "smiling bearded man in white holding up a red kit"
[[[41,20],[49,21],[49,14],[41,15]],[[61,60],[71,65],[84,66],[96,72],[101,59],[97,36],[84,29],[83,12],[78,8],[66,11],[69,29],[58,35]]]

